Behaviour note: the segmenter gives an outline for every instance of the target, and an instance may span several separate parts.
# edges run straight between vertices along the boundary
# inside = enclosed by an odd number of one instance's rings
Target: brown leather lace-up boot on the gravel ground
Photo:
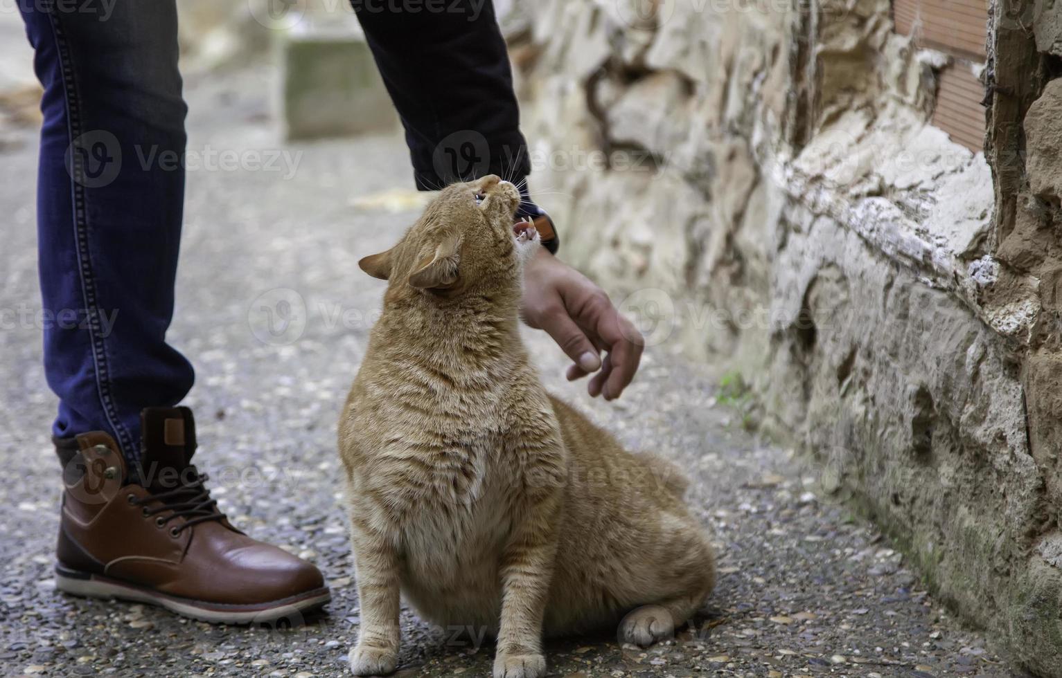
[[[226,624],[297,621],[329,601],[315,567],[247,537],[218,509],[190,463],[190,410],[153,407],[141,421],[139,469],[126,469],[106,433],[79,435],[74,449],[56,441],[66,487],[56,588]]]

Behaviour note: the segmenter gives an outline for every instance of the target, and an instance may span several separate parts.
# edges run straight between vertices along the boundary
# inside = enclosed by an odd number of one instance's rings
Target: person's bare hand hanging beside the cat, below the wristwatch
[[[524,278],[524,321],[545,330],[575,361],[568,381],[597,372],[586,386],[590,397],[619,398],[638,370],[641,333],[601,288],[545,249],[528,262]]]

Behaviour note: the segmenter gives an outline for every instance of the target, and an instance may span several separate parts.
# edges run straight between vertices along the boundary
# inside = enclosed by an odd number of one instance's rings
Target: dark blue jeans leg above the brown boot
[[[19,7],[45,87],[37,220],[53,433],[105,431],[135,459],[140,410],[177,403],[193,380],[166,343],[185,185],[176,6]]]

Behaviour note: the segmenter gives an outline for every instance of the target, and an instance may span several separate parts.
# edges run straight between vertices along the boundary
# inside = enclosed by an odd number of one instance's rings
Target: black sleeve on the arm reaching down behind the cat
[[[352,0],[406,127],[422,190],[530,172],[506,41],[489,0]]]

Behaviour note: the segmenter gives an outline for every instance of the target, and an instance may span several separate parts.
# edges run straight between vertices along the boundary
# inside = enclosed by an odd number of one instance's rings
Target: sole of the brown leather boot
[[[254,605],[208,603],[167,595],[153,589],[98,574],[70,570],[63,566],[55,566],[55,588],[64,593],[83,597],[156,605],[182,616],[212,624],[264,624],[278,628],[301,626],[309,612],[315,611],[331,599],[331,592],[327,587],[324,587],[279,601]]]

